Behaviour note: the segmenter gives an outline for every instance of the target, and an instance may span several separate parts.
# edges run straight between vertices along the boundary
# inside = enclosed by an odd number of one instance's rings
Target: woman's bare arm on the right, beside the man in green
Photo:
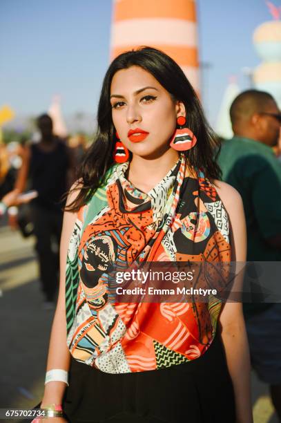
[[[225,182],[215,182],[231,228],[232,261],[246,261],[246,224],[242,198],[238,191]],[[242,292],[243,272],[235,279],[234,291]],[[227,366],[233,382],[238,423],[252,423],[251,365],[249,345],[242,312],[242,302],[226,302],[220,314],[222,342]]]

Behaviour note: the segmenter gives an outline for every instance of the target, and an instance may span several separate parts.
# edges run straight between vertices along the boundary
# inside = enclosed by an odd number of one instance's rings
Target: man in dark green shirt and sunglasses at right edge
[[[248,238],[247,261],[281,260],[281,163],[273,148],[281,113],[269,93],[249,90],[230,109],[234,137],[219,156],[222,178],[242,196]],[[253,368],[270,385],[281,420],[281,304],[244,304]]]

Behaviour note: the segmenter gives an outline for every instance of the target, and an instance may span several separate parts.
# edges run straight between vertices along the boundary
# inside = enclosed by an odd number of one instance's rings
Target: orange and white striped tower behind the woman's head
[[[200,92],[196,0],[113,0],[110,59],[139,46],[173,57]]]

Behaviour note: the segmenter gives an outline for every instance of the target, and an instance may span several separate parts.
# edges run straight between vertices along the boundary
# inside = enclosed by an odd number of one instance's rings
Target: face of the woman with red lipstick
[[[113,124],[133,154],[142,157],[164,153],[184,105],[172,100],[157,79],[139,66],[115,73],[110,89]]]

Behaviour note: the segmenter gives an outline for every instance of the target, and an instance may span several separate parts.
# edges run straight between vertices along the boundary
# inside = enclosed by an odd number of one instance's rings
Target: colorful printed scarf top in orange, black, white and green
[[[221,301],[113,303],[109,270],[142,262],[229,262],[229,221],[215,187],[177,164],[144,194],[128,162],[81,207],[66,265],[67,344],[106,373],[156,370],[200,357],[215,336]]]

